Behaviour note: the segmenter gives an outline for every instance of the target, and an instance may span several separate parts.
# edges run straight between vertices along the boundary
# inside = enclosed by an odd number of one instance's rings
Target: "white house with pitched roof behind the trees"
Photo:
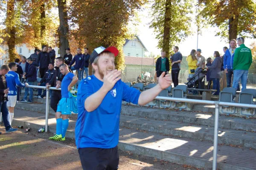
[[[148,49],[144,46],[140,38],[135,36],[132,40],[125,40],[123,52],[125,56],[145,57],[145,52],[148,52]]]

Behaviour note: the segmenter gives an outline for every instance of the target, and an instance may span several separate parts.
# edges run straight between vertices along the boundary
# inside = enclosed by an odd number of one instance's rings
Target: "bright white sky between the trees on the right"
[[[139,12],[141,23],[138,26],[138,35],[140,40],[143,42],[145,47],[149,52],[153,52],[155,55],[160,54],[161,49],[157,49],[158,40],[155,39],[154,29],[149,29],[148,23],[151,21],[151,18],[148,17],[150,9],[145,9],[142,12]],[[196,26],[192,26],[193,35],[189,36],[181,42],[177,44],[179,47],[179,51],[183,56],[188,56],[192,49],[197,48],[197,33]],[[229,44],[226,43],[220,36],[215,36],[216,28],[208,27],[207,29],[202,29],[202,34],[198,36],[198,48],[202,50],[201,55],[204,57],[212,57],[214,51],[218,51],[220,54],[223,54],[223,47],[227,46],[229,48]],[[250,46],[253,42],[253,39],[245,39],[245,45]],[[173,47],[172,47],[173,49]]]

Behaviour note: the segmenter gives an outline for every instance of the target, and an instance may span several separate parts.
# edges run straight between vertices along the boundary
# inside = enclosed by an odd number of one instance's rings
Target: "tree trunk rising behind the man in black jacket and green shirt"
[[[171,0],[166,0],[166,9],[164,14],[164,24],[163,24],[163,51],[166,52],[166,57],[169,57],[170,52],[170,25],[171,20],[169,15],[169,10],[171,6]]]

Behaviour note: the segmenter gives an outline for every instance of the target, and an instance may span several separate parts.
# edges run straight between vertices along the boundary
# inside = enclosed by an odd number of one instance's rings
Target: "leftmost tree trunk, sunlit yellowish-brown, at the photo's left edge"
[[[15,15],[14,5],[15,5],[15,0],[7,1],[6,28],[10,36],[7,40],[9,62],[14,62],[15,58],[18,56],[17,51],[15,49],[15,26],[13,23],[14,15]]]

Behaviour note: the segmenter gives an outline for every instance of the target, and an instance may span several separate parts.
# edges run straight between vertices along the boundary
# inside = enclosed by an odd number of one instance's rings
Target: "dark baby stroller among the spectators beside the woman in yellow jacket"
[[[204,82],[205,82],[206,72],[207,71],[205,71],[201,67],[198,67],[197,69],[195,69],[195,74],[193,75],[193,77],[187,79],[188,82],[186,83],[186,86],[188,86],[188,88],[204,89],[205,88]],[[202,92],[200,92],[200,93],[202,94]]]

